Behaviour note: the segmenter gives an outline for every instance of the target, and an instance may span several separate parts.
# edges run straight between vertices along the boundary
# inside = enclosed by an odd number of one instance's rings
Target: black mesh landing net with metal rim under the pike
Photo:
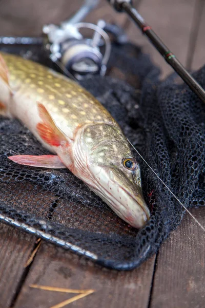
[[[109,76],[81,82],[111,112],[128,139],[187,207],[204,205],[205,106],[176,74],[159,69],[134,45],[113,46]],[[205,67],[194,73],[205,88]],[[117,79],[116,79],[117,78]],[[156,253],[185,210],[152,170],[141,167],[152,216],[137,230],[67,169],[40,169],[7,159],[46,155],[17,120],[0,120],[0,218],[107,267],[139,266]]]

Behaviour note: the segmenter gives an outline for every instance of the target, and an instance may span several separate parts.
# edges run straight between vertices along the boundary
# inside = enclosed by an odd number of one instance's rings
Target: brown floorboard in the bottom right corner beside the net
[[[192,209],[204,225],[205,208]],[[200,308],[205,303],[205,234],[186,215],[157,256],[150,308]]]

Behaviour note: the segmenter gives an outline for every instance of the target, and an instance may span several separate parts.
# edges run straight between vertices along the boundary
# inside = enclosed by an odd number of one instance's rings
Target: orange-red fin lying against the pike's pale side
[[[38,123],[36,125],[39,136],[53,146],[68,145],[69,142],[66,136],[57,128],[46,107],[41,103],[37,104],[39,116],[43,120],[43,123]]]

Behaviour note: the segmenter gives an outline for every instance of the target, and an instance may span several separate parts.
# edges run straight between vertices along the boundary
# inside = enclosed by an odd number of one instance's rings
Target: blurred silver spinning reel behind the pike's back
[[[43,27],[44,47],[50,59],[70,78],[82,79],[88,74],[105,75],[111,52],[111,41],[122,44],[127,36],[120,27],[99,20],[97,25],[81,22],[96,7],[98,0],[86,0],[84,5],[69,20],[59,26]],[[85,37],[80,30],[91,29],[92,37]]]

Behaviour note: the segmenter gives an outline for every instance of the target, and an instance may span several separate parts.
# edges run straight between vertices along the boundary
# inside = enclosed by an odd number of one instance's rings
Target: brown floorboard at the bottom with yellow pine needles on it
[[[49,308],[74,294],[31,288],[31,284],[71,289],[93,289],[94,293],[69,307],[138,307],[148,306],[155,257],[130,272],[117,272],[94,265],[84,258],[43,244],[34,259],[14,308]],[[32,300],[31,300],[32,299]]]

